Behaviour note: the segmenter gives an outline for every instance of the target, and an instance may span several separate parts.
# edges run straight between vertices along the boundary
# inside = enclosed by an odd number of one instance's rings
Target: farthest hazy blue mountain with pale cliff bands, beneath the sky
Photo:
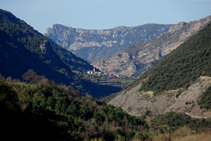
[[[173,25],[145,24],[106,30],[86,30],[54,24],[44,35],[85,60],[100,60],[127,46],[164,34]]]

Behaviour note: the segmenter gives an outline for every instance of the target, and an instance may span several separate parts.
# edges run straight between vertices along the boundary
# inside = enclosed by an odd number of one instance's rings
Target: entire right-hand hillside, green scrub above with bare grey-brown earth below
[[[208,24],[125,87],[109,104],[136,116],[182,112],[194,118],[211,117],[210,57]]]

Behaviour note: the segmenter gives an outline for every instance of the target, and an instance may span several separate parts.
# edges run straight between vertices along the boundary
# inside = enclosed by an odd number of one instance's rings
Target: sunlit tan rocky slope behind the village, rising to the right
[[[123,51],[92,65],[102,72],[140,76],[163,56],[176,49],[189,37],[211,22],[211,16],[192,22],[180,22],[170,27],[167,33],[144,43],[133,44]]]

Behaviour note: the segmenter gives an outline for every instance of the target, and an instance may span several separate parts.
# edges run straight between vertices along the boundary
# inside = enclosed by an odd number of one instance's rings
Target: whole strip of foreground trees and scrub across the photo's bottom
[[[137,118],[33,70],[22,77],[24,82],[0,75],[1,121],[7,123],[1,126],[2,137],[8,140],[171,140],[210,131],[209,120],[174,112]]]

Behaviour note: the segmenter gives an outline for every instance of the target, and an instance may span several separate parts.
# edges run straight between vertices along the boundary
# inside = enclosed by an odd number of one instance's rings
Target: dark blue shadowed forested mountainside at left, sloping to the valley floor
[[[0,10],[0,15],[0,73],[5,77],[21,79],[28,69],[33,69],[56,84],[71,84],[82,94],[95,98],[121,90],[120,87],[83,80],[81,75],[93,69],[88,62],[36,31],[32,32],[32,27],[10,12]]]

